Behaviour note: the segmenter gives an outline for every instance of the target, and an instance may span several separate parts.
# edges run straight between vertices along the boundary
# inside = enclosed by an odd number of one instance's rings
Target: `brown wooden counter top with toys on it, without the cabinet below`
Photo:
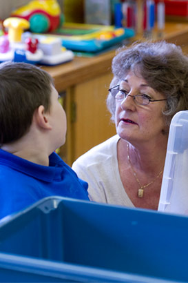
[[[140,39],[140,37],[133,37],[130,43],[137,39]],[[154,39],[158,39],[156,31],[154,31]],[[187,51],[188,23],[166,23],[163,37],[160,39],[176,43],[182,46],[182,48],[185,47]],[[115,50],[112,50],[89,58],[74,57],[71,62],[59,66],[44,66],[43,68],[54,77],[56,89],[61,92],[70,86],[92,79],[111,70],[114,55]]]

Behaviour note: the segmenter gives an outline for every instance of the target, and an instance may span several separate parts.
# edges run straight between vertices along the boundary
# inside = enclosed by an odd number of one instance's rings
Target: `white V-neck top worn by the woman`
[[[114,135],[81,155],[72,169],[89,184],[89,197],[94,202],[134,207],[127,196],[118,170],[117,143]]]

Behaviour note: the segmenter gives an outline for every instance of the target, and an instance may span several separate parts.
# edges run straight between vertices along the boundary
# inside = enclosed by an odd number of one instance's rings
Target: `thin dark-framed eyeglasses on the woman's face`
[[[109,88],[108,91],[111,92],[111,95],[117,100],[123,100],[127,96],[133,97],[135,103],[138,104],[138,105],[147,105],[147,104],[149,104],[149,102],[167,100],[167,99],[155,99],[155,100],[153,100],[148,95],[145,95],[145,94],[143,94],[143,95],[128,95],[126,90],[120,90],[119,89],[119,84],[117,86],[114,86],[113,88]]]

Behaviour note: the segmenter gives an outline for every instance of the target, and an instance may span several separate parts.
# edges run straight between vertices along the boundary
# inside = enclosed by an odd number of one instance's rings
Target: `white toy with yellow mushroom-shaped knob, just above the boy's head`
[[[0,61],[21,61],[30,64],[54,66],[71,61],[73,52],[61,46],[61,39],[36,39],[30,32],[30,23],[22,18],[10,17],[3,22],[8,34],[0,37]]]

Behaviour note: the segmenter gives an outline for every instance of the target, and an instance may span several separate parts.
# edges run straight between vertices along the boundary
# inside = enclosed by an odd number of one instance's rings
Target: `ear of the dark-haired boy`
[[[38,124],[38,126],[41,128],[44,128],[46,130],[51,130],[52,126],[50,126],[48,117],[49,114],[45,113],[45,109],[43,105],[40,105],[34,112],[34,119],[36,121],[36,124]]]

